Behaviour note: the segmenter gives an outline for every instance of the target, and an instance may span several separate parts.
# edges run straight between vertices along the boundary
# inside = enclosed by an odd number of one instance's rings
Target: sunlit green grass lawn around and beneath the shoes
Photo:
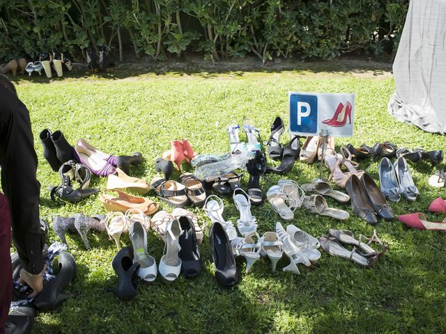
[[[287,120],[289,90],[356,93],[355,135],[339,138],[337,147],[347,143],[373,145],[391,141],[401,147],[444,149],[444,136],[422,132],[389,116],[387,101],[394,90],[390,75],[379,72],[358,74],[337,72],[330,65],[323,70],[246,71],[190,73],[163,72],[130,75],[122,79],[93,78],[36,79],[17,81],[21,100],[28,106],[39,157],[38,180],[42,184],[40,213],[54,215],[100,214],[104,209],[98,196],[79,205],[54,203],[47,187],[59,184],[45,159],[38,140],[42,129],[61,129],[70,143],[85,138],[105,152],[142,152],[144,163],[132,175],[150,182],[156,175],[153,161],[169,150],[169,141],[186,137],[201,153],[229,150],[227,122],[241,124],[250,118],[263,139],[269,136],[275,116]],[[378,74],[378,75],[373,75]],[[125,76],[124,76],[125,77]],[[288,121],[286,121],[288,122]],[[286,137],[286,136],[285,136]],[[269,161],[270,164],[274,164]],[[369,166],[370,164],[370,166]],[[183,165],[184,166],[184,165]],[[361,168],[378,182],[378,163],[367,161]],[[438,166],[444,168],[444,165]],[[429,203],[445,196],[444,189],[431,189],[427,179],[433,170],[427,164],[411,168],[421,198],[409,204],[392,204],[395,214],[427,212]],[[328,170],[324,169],[325,177]],[[178,172],[174,177],[178,177]],[[295,164],[287,178],[300,184],[318,175],[318,166]],[[268,175],[263,191],[279,180]],[[105,189],[107,179],[94,178],[92,186]],[[243,178],[247,184],[247,175]],[[153,194],[149,193],[153,200]],[[332,206],[346,209],[328,199]],[[160,209],[171,207],[160,202]],[[191,209],[208,221],[201,209]],[[259,234],[273,230],[281,221],[269,204],[253,207],[259,221]],[[441,221],[443,216],[427,214]],[[238,211],[231,198],[225,199],[224,217],[236,221]],[[282,221],[282,223],[284,223]],[[347,221],[321,218],[305,209],[295,212],[291,223],[316,237],[329,228],[371,235],[374,227],[351,213]],[[286,223],[284,223],[286,225]],[[445,333],[446,331],[446,239],[442,232],[408,230],[398,221],[380,221],[379,237],[390,251],[375,269],[322,251],[314,269],[300,267],[301,275],[282,272],[289,264],[284,257],[277,271],[261,259],[245,274],[245,261],[237,260],[240,283],[222,289],[213,276],[207,232],[201,246],[204,269],[201,276],[187,280],[180,276],[171,285],[157,278],[141,284],[136,299],[118,301],[107,292],[117,283],[111,267],[116,246],[106,233],[93,232],[92,250],[85,250],[77,234],[68,235],[68,244],[77,260],[77,279],[68,292],[73,295],[54,312],[40,312],[32,333]],[[130,244],[128,235],[122,243]],[[59,241],[54,232],[48,242]],[[149,252],[159,261],[164,244],[154,232],[148,235]]]

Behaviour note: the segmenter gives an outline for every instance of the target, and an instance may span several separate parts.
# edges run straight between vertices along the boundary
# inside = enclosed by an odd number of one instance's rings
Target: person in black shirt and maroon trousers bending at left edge
[[[14,85],[0,74],[0,166],[5,194],[0,193],[0,334],[5,331],[12,296],[11,228],[23,267],[20,277],[34,290],[34,296],[43,289],[45,232],[40,228],[40,184],[33,143],[29,111]]]

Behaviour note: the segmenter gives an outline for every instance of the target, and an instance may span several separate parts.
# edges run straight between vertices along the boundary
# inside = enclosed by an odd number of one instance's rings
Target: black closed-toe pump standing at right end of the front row
[[[210,227],[209,246],[217,282],[222,287],[233,287],[238,281],[236,260],[232,255],[231,241],[222,224],[213,223]]]

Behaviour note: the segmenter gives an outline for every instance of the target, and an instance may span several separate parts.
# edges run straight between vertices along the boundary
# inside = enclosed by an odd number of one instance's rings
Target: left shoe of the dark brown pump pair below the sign
[[[356,175],[348,177],[346,191],[348,196],[350,196],[353,212],[358,217],[364,219],[364,221],[367,221],[367,223],[371,225],[376,224],[378,221],[376,220],[374,208],[371,206],[367,193]]]

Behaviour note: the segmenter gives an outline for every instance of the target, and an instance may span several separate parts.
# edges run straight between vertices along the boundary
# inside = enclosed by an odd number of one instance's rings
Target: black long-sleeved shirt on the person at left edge
[[[9,201],[12,235],[22,267],[43,270],[45,232],[40,229],[40,184],[29,111],[9,90],[0,86],[1,187]],[[0,224],[3,221],[0,220]]]

